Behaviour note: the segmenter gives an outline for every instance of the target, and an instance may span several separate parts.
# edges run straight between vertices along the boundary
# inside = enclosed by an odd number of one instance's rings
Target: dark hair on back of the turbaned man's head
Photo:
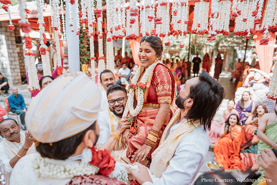
[[[40,143],[36,149],[42,157],[48,157],[50,159],[66,160],[68,157],[73,155],[77,147],[81,144],[84,135],[88,130],[95,130],[95,122],[86,130],[76,134],[72,137],[60,140],[58,142],[52,143]],[[97,138],[96,138],[97,139]]]

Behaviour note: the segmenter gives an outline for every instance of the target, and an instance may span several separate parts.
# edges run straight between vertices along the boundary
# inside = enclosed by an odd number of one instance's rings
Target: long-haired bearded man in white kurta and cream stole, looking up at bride
[[[175,101],[179,109],[152,153],[150,170],[134,163],[140,168],[138,173],[131,170],[136,181],[143,185],[192,184],[209,149],[206,130],[224,97],[223,87],[204,70],[187,80]]]

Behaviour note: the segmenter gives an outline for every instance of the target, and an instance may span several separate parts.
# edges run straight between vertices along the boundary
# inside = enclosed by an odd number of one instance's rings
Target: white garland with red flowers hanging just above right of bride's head
[[[169,20],[169,1],[158,0],[156,18],[154,24],[156,25],[156,34],[163,37],[165,46],[170,46],[168,35],[170,35],[170,20]]]

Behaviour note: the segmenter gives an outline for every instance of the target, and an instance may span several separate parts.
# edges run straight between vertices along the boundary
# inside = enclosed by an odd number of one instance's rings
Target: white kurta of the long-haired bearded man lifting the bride
[[[168,133],[178,129],[178,127],[186,120],[182,120],[178,124],[173,124]],[[176,121],[178,122],[178,121]],[[149,175],[154,185],[190,185],[197,176],[200,168],[204,164],[205,158],[209,150],[208,134],[204,130],[203,125],[187,134],[178,144],[173,157],[169,161],[169,165],[162,177],[158,178],[152,175],[148,169]],[[151,185],[145,182],[143,185]]]

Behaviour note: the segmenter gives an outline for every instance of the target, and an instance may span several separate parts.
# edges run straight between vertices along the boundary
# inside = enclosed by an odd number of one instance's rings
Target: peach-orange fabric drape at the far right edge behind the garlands
[[[269,37],[268,45],[259,45],[259,41],[263,38],[263,33],[259,33],[254,35],[253,38],[255,40],[256,51],[259,58],[259,66],[260,69],[267,74],[270,73],[271,61],[274,53],[274,44],[276,41],[276,35],[274,33],[268,33]]]

